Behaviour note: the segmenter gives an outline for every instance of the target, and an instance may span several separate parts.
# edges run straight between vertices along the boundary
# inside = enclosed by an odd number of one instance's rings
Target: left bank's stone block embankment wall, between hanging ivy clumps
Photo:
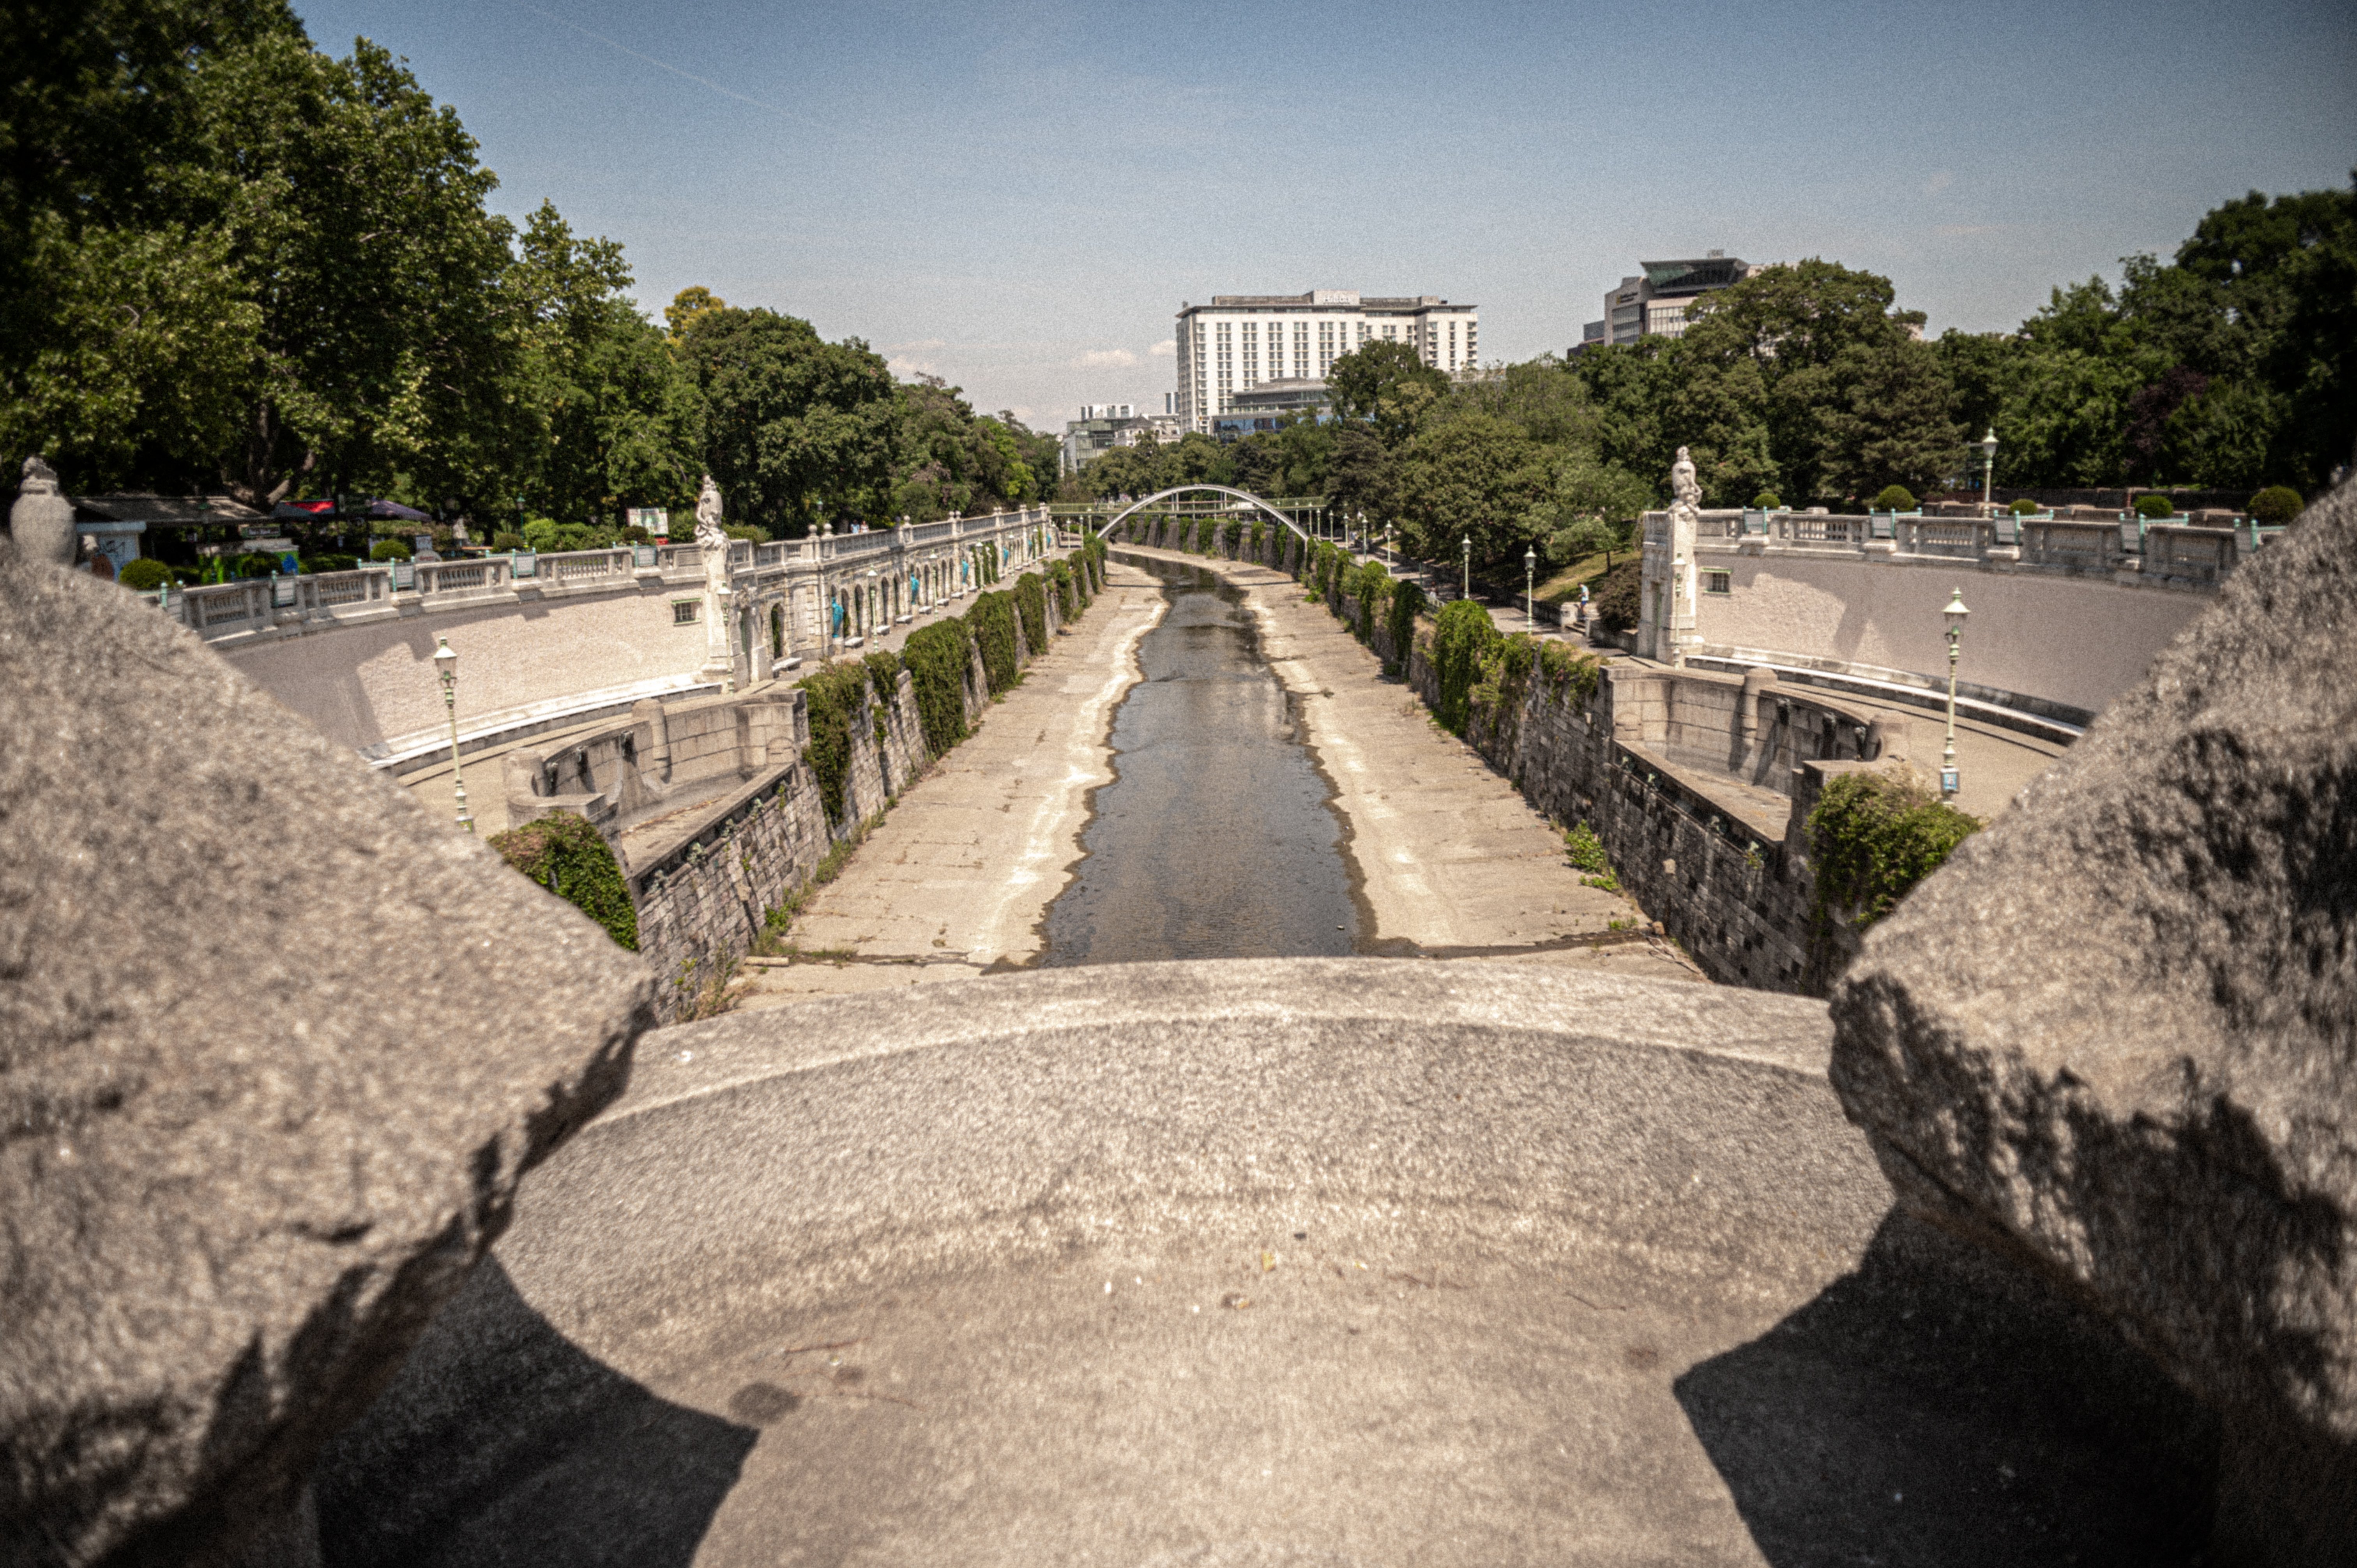
[[[1051,637],[1061,627],[1054,589],[1047,625]],[[1018,667],[1042,651],[1028,646],[1016,615]],[[808,762],[808,700],[783,681],[742,696],[646,700],[627,722],[561,750],[509,755],[509,821],[570,811],[615,842],[665,1021],[679,1019],[717,974],[752,950],[768,913],[808,887],[827,851],[858,837],[933,764],[910,672],[900,670],[891,691],[879,691],[870,670],[865,693],[865,719],[849,731],[841,818],[827,816]],[[971,729],[990,707],[990,679],[973,644],[959,696]],[[712,783],[728,776],[740,783],[712,797]],[[674,830],[625,842],[634,821],[660,816],[665,799],[684,790],[705,799]]]

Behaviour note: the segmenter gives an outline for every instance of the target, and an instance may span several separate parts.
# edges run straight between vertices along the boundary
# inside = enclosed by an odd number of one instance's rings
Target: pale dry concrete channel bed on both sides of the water
[[[1372,917],[1362,950],[1699,979],[1638,929],[1629,898],[1584,887],[1563,837],[1292,578],[1120,545],[1108,592],[1072,634],[978,736],[910,785],[794,922],[794,946],[825,957],[757,967],[745,1007],[964,979],[1039,953],[1047,905],[1080,861],[1087,792],[1113,778],[1108,736],[1138,679],[1136,641],[1164,608],[1160,580],[1124,554],[1244,587],[1261,648],[1336,785],[1343,854]]]

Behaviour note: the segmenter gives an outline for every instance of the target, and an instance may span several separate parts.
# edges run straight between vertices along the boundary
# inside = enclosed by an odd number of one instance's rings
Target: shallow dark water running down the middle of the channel
[[[1049,905],[1039,964],[1346,955],[1360,898],[1334,785],[1261,658],[1242,589],[1131,559],[1169,613],[1113,714],[1113,783],[1089,795],[1082,861]]]

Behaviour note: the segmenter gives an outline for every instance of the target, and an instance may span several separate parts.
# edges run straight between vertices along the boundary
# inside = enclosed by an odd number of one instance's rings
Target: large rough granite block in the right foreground
[[[2220,1540],[2357,1561],[2357,490],[2227,582],[1834,995],[1919,1212],[2227,1417]]]

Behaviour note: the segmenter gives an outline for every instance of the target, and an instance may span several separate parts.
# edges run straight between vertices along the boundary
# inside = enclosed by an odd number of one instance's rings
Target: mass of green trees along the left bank
[[[688,288],[497,179],[382,47],[278,0],[9,7],[0,448],[78,490],[368,493],[610,538],[693,505],[799,533],[1037,498],[1054,443],[858,340]]]

